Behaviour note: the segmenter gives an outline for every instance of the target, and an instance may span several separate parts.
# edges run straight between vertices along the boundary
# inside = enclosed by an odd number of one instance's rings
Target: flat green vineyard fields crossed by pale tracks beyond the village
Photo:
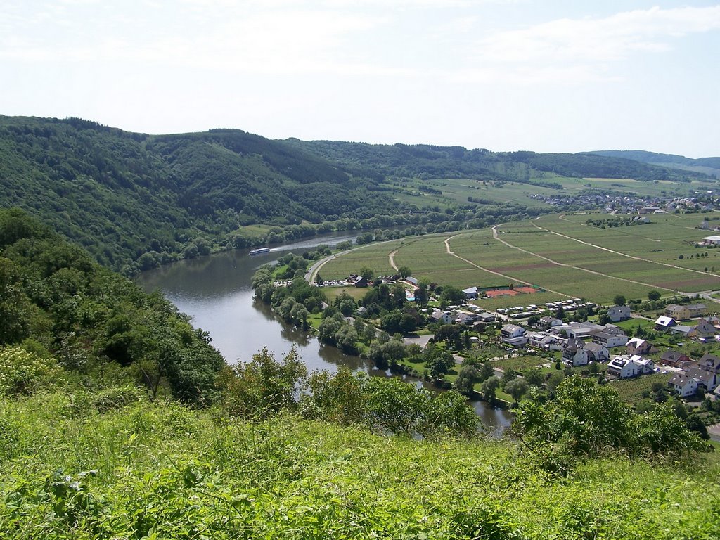
[[[720,289],[720,248],[694,248],[691,241],[708,235],[693,228],[701,215],[653,215],[653,222],[621,228],[585,225],[608,215],[547,215],[482,230],[405,238],[363,246],[322,269],[325,279],[356,273],[369,266],[377,274],[408,266],[413,276],[441,285],[500,287],[530,284],[536,294],[481,298],[488,309],[543,304],[567,297],[611,302],[616,294],[644,298],[652,289],[662,294]],[[660,247],[658,247],[660,246]],[[448,247],[451,253],[448,252]],[[656,251],[656,250],[662,251]],[[678,259],[682,252],[708,256]],[[716,262],[717,261],[717,262]],[[699,268],[702,266],[702,269]]]

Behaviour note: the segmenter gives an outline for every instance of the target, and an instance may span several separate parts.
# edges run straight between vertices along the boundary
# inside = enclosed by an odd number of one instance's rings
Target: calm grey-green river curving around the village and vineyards
[[[264,347],[278,359],[295,347],[308,371],[336,372],[340,366],[346,366],[384,377],[387,373],[374,369],[369,361],[324,346],[315,337],[276,318],[269,306],[253,299],[250,286],[255,271],[278,256],[291,251],[297,254],[312,251],[320,243],[334,246],[354,238],[355,235],[347,233],[331,233],[271,248],[269,253],[260,255],[249,256],[246,251],[217,253],[143,272],[137,281],[148,292],[161,289],[168,300],[192,317],[195,327],[207,330],[212,344],[229,364],[248,361]],[[510,425],[507,411],[489,408],[483,402],[473,405],[491,432],[502,433]]]

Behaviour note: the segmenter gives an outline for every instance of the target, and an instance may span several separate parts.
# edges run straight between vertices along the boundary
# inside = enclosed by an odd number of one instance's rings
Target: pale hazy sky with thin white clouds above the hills
[[[720,2],[3,0],[0,114],[720,156]]]

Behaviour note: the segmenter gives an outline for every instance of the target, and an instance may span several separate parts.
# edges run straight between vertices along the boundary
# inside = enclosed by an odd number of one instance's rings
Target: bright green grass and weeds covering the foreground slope
[[[510,441],[415,441],[81,395],[0,401],[4,538],[665,540],[720,535],[715,454],[577,462]],[[6,444],[11,439],[12,444]],[[154,535],[154,536],[153,536]]]

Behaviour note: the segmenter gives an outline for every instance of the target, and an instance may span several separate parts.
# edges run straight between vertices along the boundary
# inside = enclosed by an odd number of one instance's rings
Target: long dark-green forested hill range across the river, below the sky
[[[153,136],[77,118],[0,116],[0,207],[21,207],[126,274],[333,229],[455,230],[484,217],[474,204],[405,202],[398,179],[559,188],[557,176],[707,178],[592,153],[269,140],[242,130]],[[505,220],[528,217],[522,204],[497,206]]]

